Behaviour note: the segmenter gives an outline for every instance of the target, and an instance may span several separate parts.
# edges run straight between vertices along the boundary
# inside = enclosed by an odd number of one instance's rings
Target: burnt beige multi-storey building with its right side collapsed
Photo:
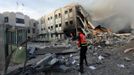
[[[41,30],[42,39],[65,39],[66,36],[70,36],[70,33],[76,36],[77,28],[85,27],[83,26],[85,20],[87,23],[87,20],[91,19],[81,5],[69,4],[43,16],[40,20],[42,26],[39,30]],[[90,24],[90,27],[94,28],[92,24]]]

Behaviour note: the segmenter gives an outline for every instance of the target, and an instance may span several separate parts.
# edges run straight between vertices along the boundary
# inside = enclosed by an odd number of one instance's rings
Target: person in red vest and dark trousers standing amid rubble
[[[87,58],[86,58],[86,52],[87,52],[87,40],[86,36],[81,30],[81,28],[78,28],[78,47],[80,47],[80,73],[84,73],[83,68],[83,62],[85,60],[85,64],[88,65]]]

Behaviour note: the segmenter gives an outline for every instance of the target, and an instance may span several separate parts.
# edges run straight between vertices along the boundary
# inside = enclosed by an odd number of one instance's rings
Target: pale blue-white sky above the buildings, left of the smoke
[[[0,0],[0,13],[22,12],[30,18],[39,19],[59,7],[75,0]]]

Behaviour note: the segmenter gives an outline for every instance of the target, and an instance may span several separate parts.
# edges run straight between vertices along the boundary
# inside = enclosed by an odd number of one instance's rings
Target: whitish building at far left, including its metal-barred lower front
[[[5,66],[5,56],[20,46],[28,37],[38,34],[38,21],[20,12],[4,12],[0,14],[0,71]],[[23,45],[26,48],[26,44]]]

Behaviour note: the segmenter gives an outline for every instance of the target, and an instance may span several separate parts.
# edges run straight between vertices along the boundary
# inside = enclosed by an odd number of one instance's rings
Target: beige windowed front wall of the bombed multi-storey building
[[[46,33],[44,37],[52,40],[65,39],[66,35],[76,33],[76,9],[78,6],[77,4],[69,4],[45,15],[41,18],[44,28],[41,27],[40,30],[42,31],[40,32]],[[43,31],[43,29],[45,29],[45,31]]]

